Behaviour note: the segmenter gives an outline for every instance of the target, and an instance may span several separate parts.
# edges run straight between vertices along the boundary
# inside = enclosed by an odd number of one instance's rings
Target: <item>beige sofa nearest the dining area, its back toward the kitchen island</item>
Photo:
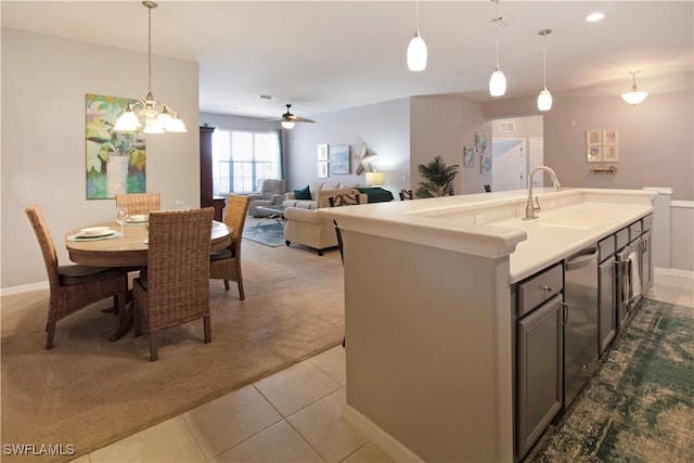
[[[293,193],[285,194],[291,196]],[[333,222],[330,219],[320,217],[316,209],[330,207],[330,197],[338,194],[358,194],[359,203],[368,203],[365,194],[355,188],[342,188],[334,190],[318,190],[316,201],[295,200],[288,197],[284,201],[287,207],[284,209],[284,241],[288,246],[292,243],[303,244],[312,247],[319,256],[323,255],[323,249],[337,246],[337,235]]]

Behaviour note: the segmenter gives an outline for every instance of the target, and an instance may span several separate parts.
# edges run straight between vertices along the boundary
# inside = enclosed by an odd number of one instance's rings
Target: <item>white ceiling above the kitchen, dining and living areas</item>
[[[152,52],[200,63],[202,112],[278,117],[285,103],[311,117],[410,95],[459,93],[491,101],[496,3],[419,2],[428,65],[409,72],[410,1],[160,1]],[[542,89],[617,95],[637,83],[652,93],[692,87],[693,1],[500,0],[502,99]],[[605,18],[587,23],[601,11]],[[3,27],[146,53],[147,10],[139,1],[1,1]],[[143,61],[146,66],[146,60]],[[166,76],[153,68],[152,87]],[[143,91],[146,82],[143,82]],[[273,95],[272,101],[258,98]]]

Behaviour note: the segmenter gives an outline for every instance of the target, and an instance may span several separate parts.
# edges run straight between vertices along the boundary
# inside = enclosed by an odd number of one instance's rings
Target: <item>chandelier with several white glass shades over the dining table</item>
[[[138,100],[133,104],[129,104],[128,108],[118,117],[115,131],[131,132],[142,128],[144,121],[144,133],[164,133],[164,132],[187,132],[185,125],[178,115],[178,112],[171,110],[164,103],[159,103],[152,94],[152,9],[157,8],[153,1],[143,1],[142,4],[147,9],[147,63],[149,80],[147,95],[144,100]]]

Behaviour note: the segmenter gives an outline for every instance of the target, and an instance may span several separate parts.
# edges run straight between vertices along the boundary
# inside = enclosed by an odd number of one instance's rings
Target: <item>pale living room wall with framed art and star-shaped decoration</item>
[[[297,124],[286,131],[287,190],[295,190],[316,181],[364,183],[364,175],[355,173],[361,144],[377,153],[372,168],[385,172],[383,188],[397,192],[408,188],[410,178],[410,101],[385,103],[322,114],[312,117],[316,124]],[[350,173],[318,178],[317,150],[319,144],[350,146]],[[403,180],[403,177],[404,180]]]

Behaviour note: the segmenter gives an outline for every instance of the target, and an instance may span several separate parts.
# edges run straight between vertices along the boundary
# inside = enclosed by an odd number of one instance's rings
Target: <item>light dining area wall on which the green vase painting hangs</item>
[[[154,97],[178,110],[188,133],[147,136],[147,191],[200,204],[198,66],[154,56]],[[62,265],[63,236],[113,220],[114,200],[86,200],[85,95],[144,98],[146,53],[2,28],[2,288],[44,282],[24,209],[38,205]]]

